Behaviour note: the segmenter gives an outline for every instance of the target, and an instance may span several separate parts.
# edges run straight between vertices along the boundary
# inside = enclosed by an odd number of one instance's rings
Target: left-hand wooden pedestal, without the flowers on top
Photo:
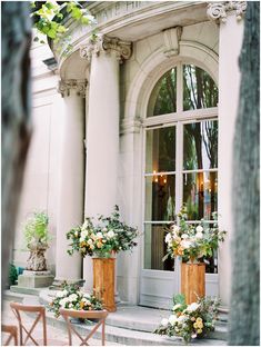
[[[102,298],[108,311],[114,313],[114,267],[116,258],[92,258],[93,261],[93,290]]]

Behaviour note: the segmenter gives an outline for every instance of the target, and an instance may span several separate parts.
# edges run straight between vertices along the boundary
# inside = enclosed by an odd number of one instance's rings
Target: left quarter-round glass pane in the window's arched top
[[[177,111],[177,69],[165,72],[155,83],[148,105],[148,117]]]

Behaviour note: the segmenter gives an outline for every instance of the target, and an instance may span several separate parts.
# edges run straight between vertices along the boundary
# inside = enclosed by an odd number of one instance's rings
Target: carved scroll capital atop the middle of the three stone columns
[[[94,41],[90,39],[88,44],[81,47],[80,57],[91,60],[92,54],[98,57],[102,51],[109,54],[114,52],[117,60],[123,62],[131,57],[132,46],[131,42],[121,41],[118,38],[98,36]]]

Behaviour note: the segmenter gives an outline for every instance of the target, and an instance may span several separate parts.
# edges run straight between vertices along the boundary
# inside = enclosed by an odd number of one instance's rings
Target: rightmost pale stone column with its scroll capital
[[[239,56],[243,39],[245,1],[209,4],[208,14],[220,26],[219,39],[219,226],[227,230],[219,250],[219,296],[229,307],[231,290],[232,158],[235,117],[239,103]]]

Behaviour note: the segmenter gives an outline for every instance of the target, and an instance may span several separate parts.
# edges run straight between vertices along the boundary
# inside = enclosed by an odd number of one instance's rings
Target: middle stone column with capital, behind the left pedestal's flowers
[[[131,43],[98,37],[81,48],[91,60],[87,123],[86,216],[110,215],[117,204],[119,157],[119,62],[131,54]],[[87,257],[83,278],[92,288],[92,265]]]

